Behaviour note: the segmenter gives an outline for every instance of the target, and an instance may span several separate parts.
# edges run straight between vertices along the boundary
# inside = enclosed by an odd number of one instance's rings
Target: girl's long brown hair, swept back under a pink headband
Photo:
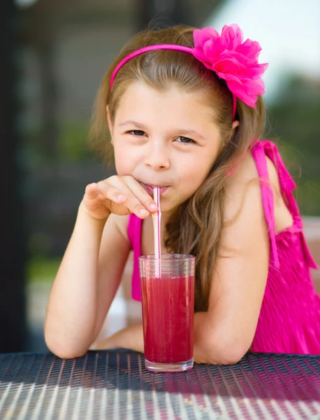
[[[170,252],[196,255],[195,310],[206,311],[223,228],[226,174],[237,165],[253,141],[261,136],[265,123],[263,100],[259,97],[256,109],[238,100],[235,119],[240,121],[240,125],[232,130],[232,97],[224,81],[193,55],[174,50],[154,50],[129,60],[119,69],[110,91],[112,71],[126,55],[138,48],[159,43],[194,47],[193,31],[193,27],[184,26],[144,31],[124,45],[103,77],[90,138],[96,144],[103,144],[106,150],[106,106],[109,106],[110,117],[114,120],[119,100],[133,81],[143,81],[157,90],[167,90],[174,84],[182,90],[200,90],[208,94],[214,122],[221,134],[221,152],[196,193],[171,216],[166,225],[165,242]]]

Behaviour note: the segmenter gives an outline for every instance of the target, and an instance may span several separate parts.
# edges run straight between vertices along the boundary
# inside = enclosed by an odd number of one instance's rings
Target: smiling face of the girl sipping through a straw
[[[161,186],[161,212],[193,195],[221,149],[212,108],[202,92],[176,87],[165,92],[132,83],[119,102],[112,124],[115,167],[132,175],[150,195]]]

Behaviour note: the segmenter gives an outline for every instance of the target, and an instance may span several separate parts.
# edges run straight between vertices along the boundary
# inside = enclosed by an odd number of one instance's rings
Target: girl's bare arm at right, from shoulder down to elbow
[[[278,188],[274,167],[269,175],[272,188]],[[201,357],[211,363],[235,363],[249,350],[266,289],[270,237],[251,156],[228,183],[224,222],[209,309],[195,337]]]

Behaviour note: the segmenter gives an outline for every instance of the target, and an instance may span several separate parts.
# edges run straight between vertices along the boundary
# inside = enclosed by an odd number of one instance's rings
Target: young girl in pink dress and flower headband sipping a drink
[[[143,328],[93,344],[133,249],[154,253],[161,187],[163,253],[196,255],[194,360],[235,363],[249,349],[320,353],[316,268],[275,144],[261,141],[261,48],[238,25],[133,37],[104,76],[92,133],[111,134],[117,176],[87,186],[45,320],[62,358],[92,348],[143,352]]]

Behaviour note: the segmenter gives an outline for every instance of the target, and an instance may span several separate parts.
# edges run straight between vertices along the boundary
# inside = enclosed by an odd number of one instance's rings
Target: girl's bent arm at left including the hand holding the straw
[[[130,250],[125,216],[146,218],[154,211],[152,197],[132,176],[87,186],[45,318],[45,342],[57,356],[81,356],[94,342]]]

